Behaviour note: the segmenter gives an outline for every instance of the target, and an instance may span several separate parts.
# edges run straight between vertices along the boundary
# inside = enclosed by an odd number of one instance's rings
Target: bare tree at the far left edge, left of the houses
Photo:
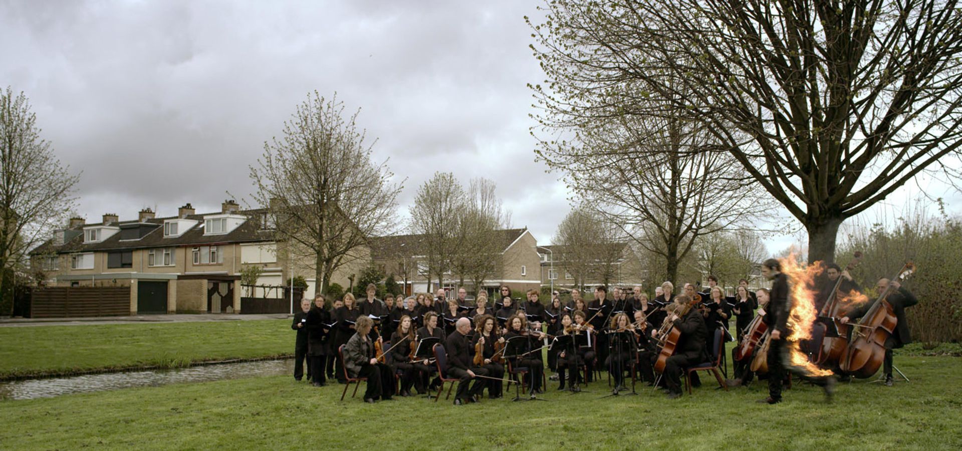
[[[63,227],[79,180],[40,138],[27,96],[0,90],[0,273],[23,269],[27,254]],[[0,292],[3,281],[0,274]]]

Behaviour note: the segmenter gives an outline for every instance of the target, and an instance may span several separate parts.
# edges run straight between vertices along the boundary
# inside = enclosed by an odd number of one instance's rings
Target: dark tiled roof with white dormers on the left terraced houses
[[[236,242],[256,242],[256,241],[269,241],[273,240],[273,234],[269,230],[262,230],[261,223],[259,219],[259,214],[266,212],[265,209],[253,209],[253,210],[243,210],[237,212],[237,214],[242,214],[248,216],[247,220],[241,223],[236,229],[227,234],[222,235],[209,235],[205,236],[203,232],[204,216],[209,216],[216,213],[203,213],[203,214],[189,214],[185,219],[191,219],[197,221],[187,232],[181,234],[180,237],[175,238],[165,238],[164,237],[164,221],[167,219],[177,219],[177,216],[168,217],[157,217],[152,219],[147,219],[143,223],[156,225],[155,229],[145,236],[139,239],[120,239],[120,234],[114,234],[114,236],[104,239],[100,242],[84,242],[84,236],[80,236],[70,239],[64,242],[63,245],[56,246],[53,244],[53,240],[47,240],[43,244],[39,245],[37,249],[31,252],[31,254],[44,254],[51,251],[58,254],[71,253],[71,252],[95,252],[95,251],[112,251],[112,250],[133,250],[133,249],[144,249],[151,247],[169,247],[169,246],[193,246],[193,245],[203,245],[203,244],[216,244],[216,243],[236,243]],[[139,221],[119,221],[117,223],[111,223],[110,225],[125,226],[137,224]],[[84,224],[81,226],[74,227],[73,230],[82,230],[90,226],[103,225],[102,222],[94,224]]]

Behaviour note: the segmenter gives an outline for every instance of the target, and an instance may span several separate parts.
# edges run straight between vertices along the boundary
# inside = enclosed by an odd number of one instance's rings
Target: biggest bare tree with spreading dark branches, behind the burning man
[[[833,260],[842,221],[920,172],[958,176],[954,0],[553,0],[544,9],[532,24],[547,74],[534,87],[543,118],[703,122],[715,148],[805,227],[809,262]]]

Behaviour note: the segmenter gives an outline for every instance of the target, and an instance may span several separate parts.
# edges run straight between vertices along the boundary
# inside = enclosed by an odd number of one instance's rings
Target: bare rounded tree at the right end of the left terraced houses
[[[345,115],[336,96],[314,92],[284,123],[283,138],[265,142],[250,166],[254,199],[267,207],[285,250],[313,263],[318,293],[335,270],[366,257],[368,238],[392,231],[403,184],[387,161],[373,160],[358,113]]]

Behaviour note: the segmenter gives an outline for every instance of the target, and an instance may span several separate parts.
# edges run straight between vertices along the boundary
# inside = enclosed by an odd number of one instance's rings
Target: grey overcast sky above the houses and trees
[[[523,16],[540,3],[0,1],[0,86],[30,97],[43,138],[83,171],[91,222],[249,200],[248,164],[316,89],[361,108],[375,155],[407,177],[399,220],[434,171],[452,171],[493,179],[513,225],[547,243],[570,207],[529,136],[525,84],[544,74]],[[958,211],[957,193],[931,190]]]

